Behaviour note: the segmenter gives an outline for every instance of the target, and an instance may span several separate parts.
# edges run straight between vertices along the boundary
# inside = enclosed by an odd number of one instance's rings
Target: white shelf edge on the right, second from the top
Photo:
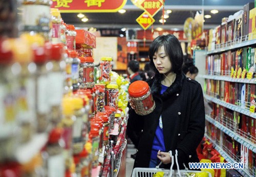
[[[224,81],[228,81],[228,82],[241,82],[241,83],[254,83],[256,84],[256,79],[238,79],[238,78],[231,78],[228,76],[216,76],[216,75],[199,75],[199,77],[201,78],[205,78],[205,79],[212,79],[212,80],[224,80]]]

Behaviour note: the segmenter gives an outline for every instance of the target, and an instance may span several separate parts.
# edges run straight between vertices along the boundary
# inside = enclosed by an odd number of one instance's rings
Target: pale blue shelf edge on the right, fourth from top
[[[249,140],[243,138],[242,136],[238,135],[236,132],[233,132],[232,130],[228,129],[224,125],[220,124],[218,121],[212,119],[210,116],[205,115],[205,119],[208,122],[214,124],[221,131],[225,132],[225,134],[227,134],[229,137],[233,138],[237,142],[241,143],[242,145],[244,145],[245,147],[247,147],[248,149],[250,149],[251,151],[256,153],[256,145],[255,144],[253,144]]]

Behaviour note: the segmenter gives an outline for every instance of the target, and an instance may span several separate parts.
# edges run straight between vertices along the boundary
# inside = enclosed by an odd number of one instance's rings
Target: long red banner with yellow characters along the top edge
[[[51,8],[60,12],[117,12],[127,0],[52,0]]]

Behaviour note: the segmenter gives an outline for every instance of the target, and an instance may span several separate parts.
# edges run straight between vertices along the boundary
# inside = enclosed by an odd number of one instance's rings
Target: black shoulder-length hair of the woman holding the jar
[[[172,72],[176,74],[181,73],[182,63],[183,63],[183,52],[180,45],[180,41],[173,35],[160,35],[150,45],[150,50],[148,51],[150,57],[151,67],[154,69],[156,75],[159,75],[158,70],[153,62],[154,54],[159,50],[160,47],[164,46],[165,53],[172,63]]]

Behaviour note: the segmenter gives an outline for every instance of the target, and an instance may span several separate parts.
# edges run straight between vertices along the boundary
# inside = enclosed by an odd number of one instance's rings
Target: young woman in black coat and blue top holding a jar
[[[155,77],[148,80],[156,108],[139,116],[130,101],[128,126],[141,131],[135,167],[169,168],[168,151],[178,150],[180,169],[199,162],[196,148],[204,136],[205,111],[201,85],[182,73],[183,53],[174,35],[158,36],[149,50]],[[129,132],[129,131],[127,131]],[[176,165],[174,166],[176,168]]]

